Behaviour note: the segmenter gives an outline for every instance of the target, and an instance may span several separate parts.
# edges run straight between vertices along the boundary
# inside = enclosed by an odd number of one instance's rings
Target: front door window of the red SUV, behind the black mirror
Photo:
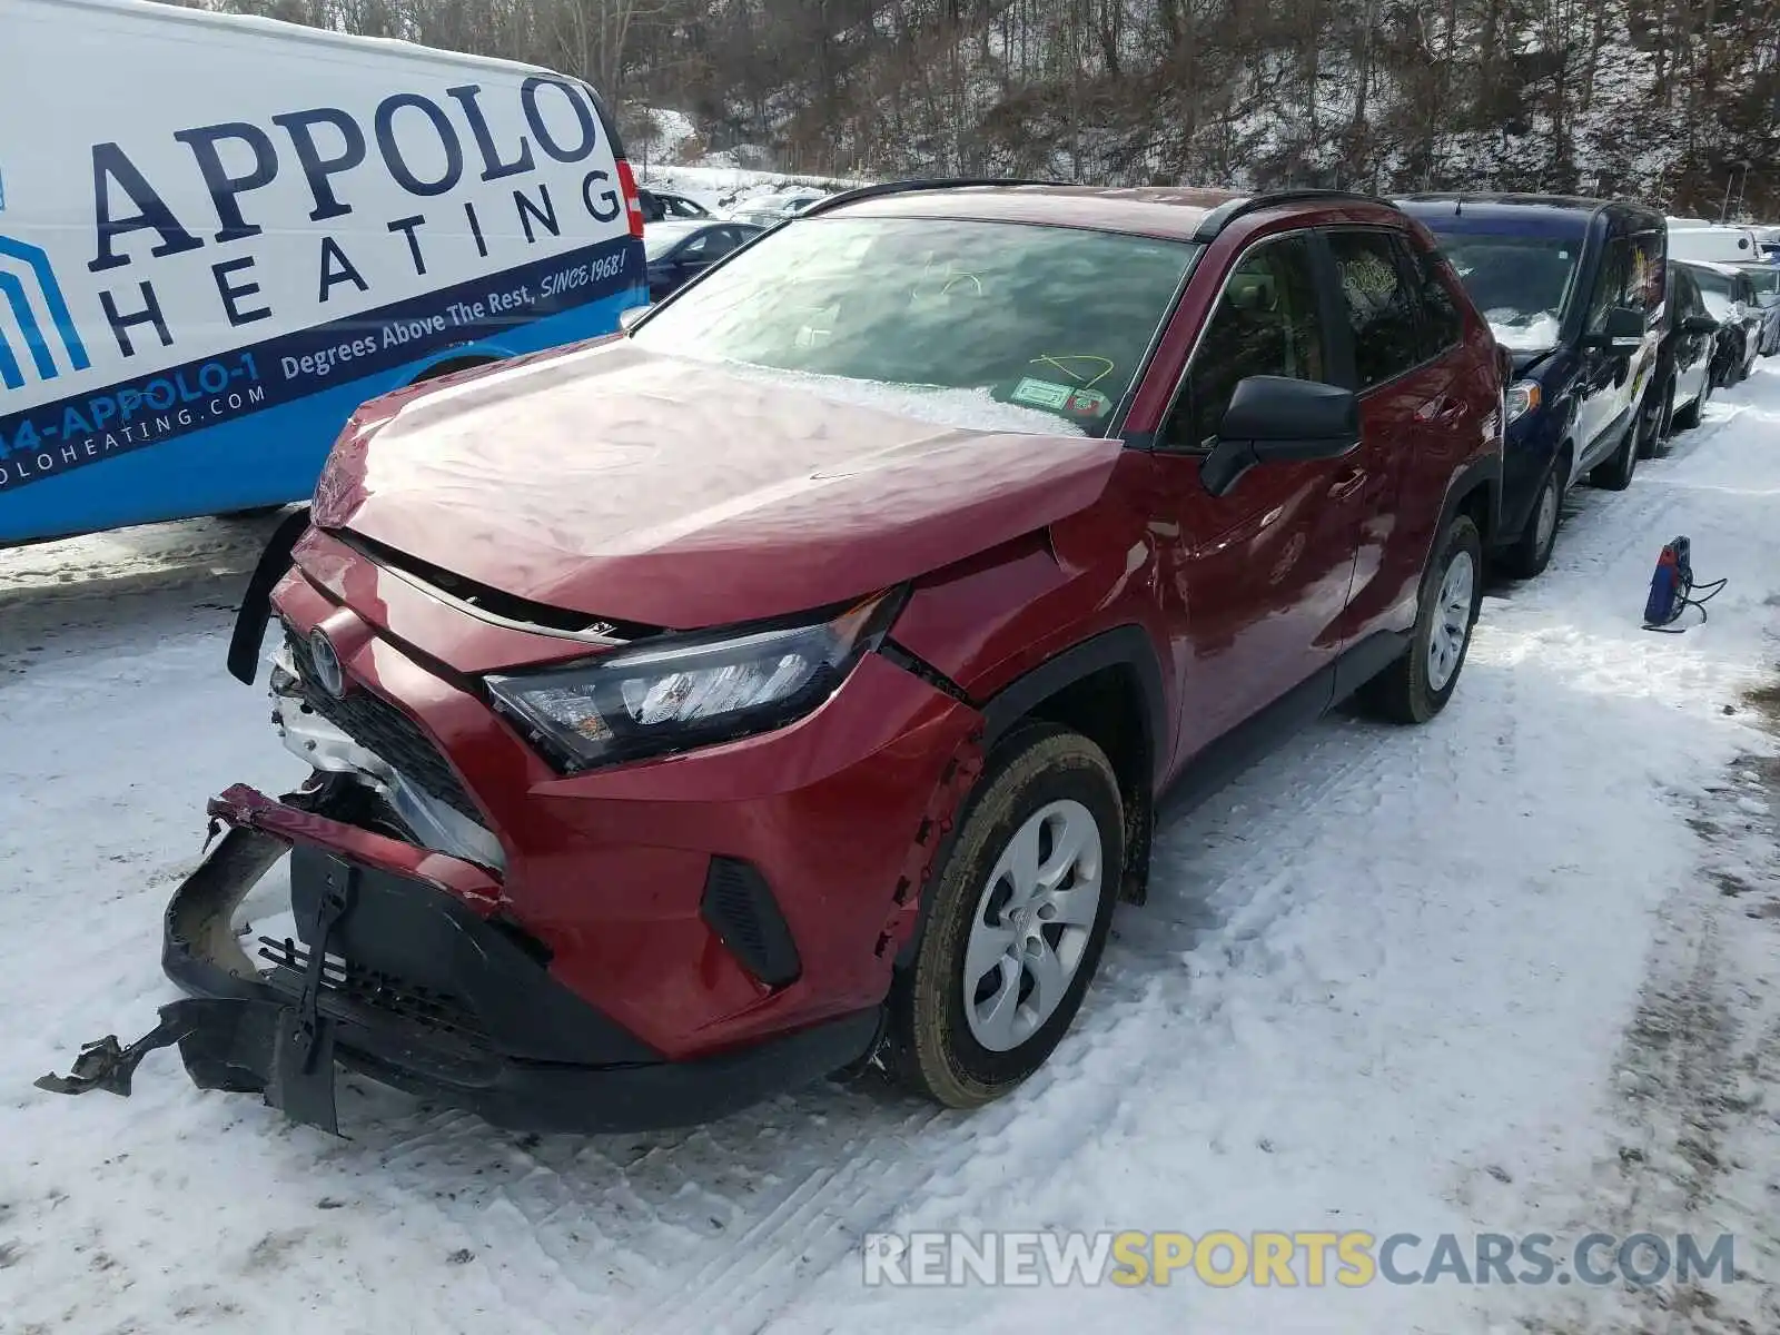
[[[1326,368],[1310,242],[1262,242],[1237,260],[1225,281],[1162,427],[1162,445],[1209,450],[1235,386],[1250,376],[1326,381]]]

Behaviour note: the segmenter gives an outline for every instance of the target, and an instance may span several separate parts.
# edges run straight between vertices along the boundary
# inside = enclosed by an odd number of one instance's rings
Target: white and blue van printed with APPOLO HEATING
[[[365,399],[616,329],[641,237],[580,80],[0,0],[0,545],[306,498]]]

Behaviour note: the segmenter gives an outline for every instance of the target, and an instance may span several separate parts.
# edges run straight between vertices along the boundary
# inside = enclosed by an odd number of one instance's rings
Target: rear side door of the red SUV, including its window
[[[1335,228],[1328,246],[1363,434],[1335,482],[1353,488],[1358,523],[1347,648],[1413,625],[1445,479],[1483,422],[1454,356],[1463,319],[1433,256],[1385,228]]]

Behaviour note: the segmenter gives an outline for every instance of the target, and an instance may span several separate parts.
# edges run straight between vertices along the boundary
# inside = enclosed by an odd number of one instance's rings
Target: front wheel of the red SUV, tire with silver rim
[[[1089,831],[1098,858],[1079,856],[1061,869],[1073,888],[1041,890],[1022,908],[1022,878],[1007,865],[1016,840],[1032,840],[1034,865],[1045,869],[1047,847],[1048,860],[1061,856],[1054,840]],[[1032,724],[995,748],[927,892],[915,959],[890,991],[888,1056],[902,1084],[945,1107],[981,1107],[1036,1072],[1068,1032],[1100,965],[1123,865],[1118,778],[1098,746]],[[1089,883],[1091,911],[1084,899],[1057,917],[1061,895]],[[967,979],[974,943],[972,968],[983,972]],[[1048,1009],[1029,970],[1045,952],[1064,968],[1073,961]]]

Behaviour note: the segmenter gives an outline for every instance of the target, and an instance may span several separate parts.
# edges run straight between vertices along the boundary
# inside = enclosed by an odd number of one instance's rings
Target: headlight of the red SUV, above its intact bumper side
[[[878,646],[899,605],[886,593],[822,621],[673,635],[571,668],[484,680],[495,707],[573,773],[801,719]]]

